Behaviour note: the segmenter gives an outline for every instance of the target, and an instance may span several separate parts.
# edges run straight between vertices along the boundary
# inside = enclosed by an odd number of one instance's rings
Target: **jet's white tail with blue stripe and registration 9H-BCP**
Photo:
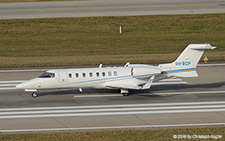
[[[206,49],[215,49],[210,44],[189,44],[172,63],[160,64],[165,77],[197,77],[197,64]]]

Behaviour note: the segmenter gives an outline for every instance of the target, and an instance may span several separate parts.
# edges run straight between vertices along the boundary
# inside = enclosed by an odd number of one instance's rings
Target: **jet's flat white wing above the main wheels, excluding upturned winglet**
[[[105,87],[108,88],[119,88],[119,89],[133,89],[133,90],[140,90],[142,87],[133,85],[133,84],[125,84],[125,83],[118,83],[118,82],[111,82],[106,83]]]

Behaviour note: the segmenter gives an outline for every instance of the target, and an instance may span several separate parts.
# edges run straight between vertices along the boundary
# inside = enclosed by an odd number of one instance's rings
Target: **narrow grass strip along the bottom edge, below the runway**
[[[182,136],[183,138],[174,138]],[[195,135],[222,135],[216,140],[225,139],[225,127],[207,127],[207,128],[180,128],[180,129],[148,129],[148,130],[112,130],[112,131],[86,131],[86,132],[65,132],[65,133],[36,133],[36,134],[8,134],[0,135],[1,141],[149,141],[149,140],[190,140],[184,138],[184,135],[191,136],[191,140]],[[203,139],[194,139],[203,140]],[[205,139],[204,139],[205,140]],[[209,138],[208,140],[215,140]]]

